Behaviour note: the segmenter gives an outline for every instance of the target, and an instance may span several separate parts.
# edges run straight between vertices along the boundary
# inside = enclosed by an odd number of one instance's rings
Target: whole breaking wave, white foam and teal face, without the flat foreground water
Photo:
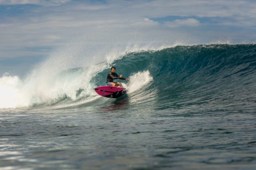
[[[177,46],[131,52],[108,63],[60,70],[49,78],[0,78],[0,108],[105,106],[93,88],[105,85],[110,66],[130,78],[124,108],[247,110],[256,108],[256,45]],[[37,77],[37,78],[35,78]],[[36,80],[35,80],[36,79]],[[41,83],[39,83],[41,82]],[[48,89],[48,90],[47,90]],[[112,100],[112,99],[111,99]]]

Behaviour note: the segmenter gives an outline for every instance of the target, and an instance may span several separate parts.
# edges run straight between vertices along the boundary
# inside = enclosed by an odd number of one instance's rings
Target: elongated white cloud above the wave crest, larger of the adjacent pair
[[[164,23],[165,26],[170,28],[180,27],[180,26],[200,26],[200,22],[197,19],[176,19],[174,21],[167,21]]]

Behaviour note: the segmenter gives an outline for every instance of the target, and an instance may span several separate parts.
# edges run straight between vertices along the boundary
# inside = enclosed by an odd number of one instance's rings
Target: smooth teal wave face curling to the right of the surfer
[[[131,53],[119,72],[148,70],[156,108],[248,110],[256,108],[256,45],[178,46]]]

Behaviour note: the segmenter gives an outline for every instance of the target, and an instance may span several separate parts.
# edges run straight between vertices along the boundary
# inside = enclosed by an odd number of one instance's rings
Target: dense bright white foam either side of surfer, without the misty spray
[[[85,80],[91,78],[95,72],[105,69],[105,67],[93,68],[73,74],[68,72],[68,74],[62,76],[58,74],[52,76],[37,74],[37,76],[31,76],[27,82],[21,81],[17,76],[4,75],[0,78],[0,108],[20,108],[38,104],[50,105],[65,98],[65,96],[73,101],[87,96],[87,100],[91,101],[97,96],[93,90],[95,85]],[[137,72],[131,75],[129,79],[129,83],[124,83],[124,87],[128,89],[128,94],[145,87],[152,81],[148,70]],[[76,96],[76,91],[79,88],[84,90],[82,94]]]

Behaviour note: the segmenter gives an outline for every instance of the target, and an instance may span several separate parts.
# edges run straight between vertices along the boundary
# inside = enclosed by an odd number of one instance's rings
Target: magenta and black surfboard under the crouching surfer
[[[100,86],[95,88],[96,93],[106,98],[119,98],[126,94],[126,89],[116,86]]]

